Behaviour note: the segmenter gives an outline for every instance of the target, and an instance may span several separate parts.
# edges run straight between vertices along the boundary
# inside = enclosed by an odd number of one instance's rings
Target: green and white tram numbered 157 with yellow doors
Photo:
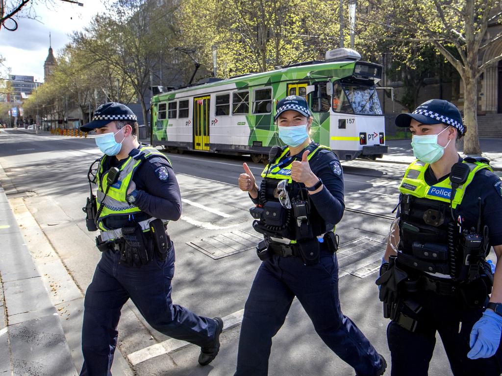
[[[382,66],[359,59],[353,50],[338,49],[328,51],[325,61],[162,92],[151,101],[153,145],[268,160],[270,147],[283,144],[274,124],[275,104],[300,95],[312,111],[314,141],[329,145],[340,160],[382,157],[385,120],[375,90]]]

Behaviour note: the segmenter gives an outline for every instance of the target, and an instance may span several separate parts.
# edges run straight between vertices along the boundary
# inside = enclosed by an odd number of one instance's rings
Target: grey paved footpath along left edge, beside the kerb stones
[[[56,308],[0,186],[0,373],[76,375]]]

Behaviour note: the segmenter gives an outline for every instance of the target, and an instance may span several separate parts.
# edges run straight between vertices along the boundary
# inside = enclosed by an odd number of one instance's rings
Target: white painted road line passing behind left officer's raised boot
[[[240,311],[231,313],[228,316],[223,317],[223,330],[232,328],[240,324],[242,322],[243,314],[244,310],[241,309]],[[129,358],[131,364],[136,365],[156,356],[168,354],[189,345],[189,342],[171,338],[164,342],[156,343],[154,345],[142,348],[141,350],[135,351],[129,354],[127,357]]]

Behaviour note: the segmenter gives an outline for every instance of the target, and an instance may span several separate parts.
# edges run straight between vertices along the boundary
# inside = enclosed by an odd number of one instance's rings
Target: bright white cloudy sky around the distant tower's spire
[[[12,74],[35,76],[44,79],[44,62],[49,52],[49,32],[51,33],[54,55],[69,41],[74,31],[83,30],[92,17],[104,11],[104,4],[98,0],[78,0],[83,7],[55,0],[51,5],[44,2],[35,4],[30,11],[37,19],[16,19],[18,30],[0,30],[0,55],[4,65],[12,69]]]

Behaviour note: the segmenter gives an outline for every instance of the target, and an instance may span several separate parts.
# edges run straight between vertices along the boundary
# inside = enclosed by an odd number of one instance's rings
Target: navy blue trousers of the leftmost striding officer
[[[198,346],[214,338],[213,319],[197,316],[173,304],[174,247],[166,260],[155,259],[141,268],[120,264],[119,252],[103,252],[84,301],[81,375],[111,375],[120,309],[129,298],[152,327],[163,334]]]

